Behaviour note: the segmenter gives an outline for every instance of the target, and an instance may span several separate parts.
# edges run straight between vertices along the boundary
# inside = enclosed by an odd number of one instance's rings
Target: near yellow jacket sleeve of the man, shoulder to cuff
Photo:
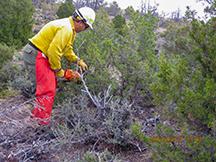
[[[61,57],[63,55],[62,51],[67,46],[67,43],[70,39],[70,33],[65,28],[60,28],[50,46],[47,50],[47,57],[50,63],[51,69],[57,72],[58,77],[64,76],[64,70],[61,68]]]

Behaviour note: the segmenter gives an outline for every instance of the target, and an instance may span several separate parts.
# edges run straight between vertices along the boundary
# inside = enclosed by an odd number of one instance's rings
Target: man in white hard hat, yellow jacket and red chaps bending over
[[[78,72],[62,69],[62,57],[69,63],[77,63],[83,71],[87,70],[86,63],[73,52],[73,43],[76,33],[89,27],[92,29],[94,20],[94,10],[82,7],[69,18],[47,23],[24,47],[23,59],[30,74],[30,83],[31,86],[36,85],[36,104],[32,117],[39,124],[47,125],[50,122],[56,94],[56,77],[66,80],[80,77]]]

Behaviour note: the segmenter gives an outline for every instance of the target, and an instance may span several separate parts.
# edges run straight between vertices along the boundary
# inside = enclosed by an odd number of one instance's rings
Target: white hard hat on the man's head
[[[95,21],[95,12],[93,9],[89,7],[81,7],[80,9],[77,9],[75,13],[81,18],[81,20],[88,24],[91,29],[93,29],[92,24]]]

